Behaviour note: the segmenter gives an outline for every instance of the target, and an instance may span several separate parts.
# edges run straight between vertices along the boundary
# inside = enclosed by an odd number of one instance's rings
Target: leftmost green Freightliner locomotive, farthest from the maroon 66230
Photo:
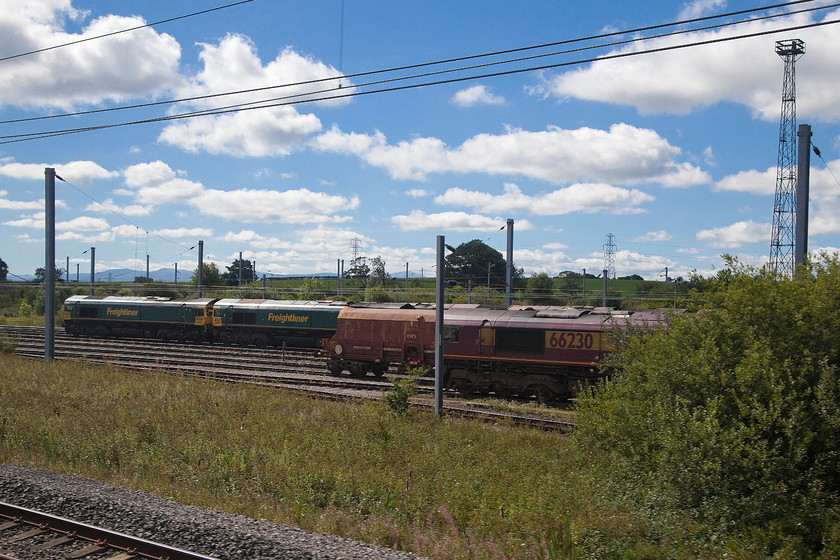
[[[74,336],[135,336],[202,342],[211,339],[215,299],[71,296],[64,329]]]

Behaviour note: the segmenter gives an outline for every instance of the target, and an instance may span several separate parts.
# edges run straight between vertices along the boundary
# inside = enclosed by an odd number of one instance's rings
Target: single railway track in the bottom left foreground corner
[[[160,543],[0,502],[0,560],[213,560]]]

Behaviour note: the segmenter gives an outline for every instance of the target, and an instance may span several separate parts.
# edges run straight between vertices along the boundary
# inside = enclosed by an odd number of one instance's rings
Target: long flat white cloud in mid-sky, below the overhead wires
[[[315,138],[313,146],[356,155],[403,180],[425,180],[431,173],[486,173],[522,175],[554,184],[586,180],[687,187],[709,181],[699,168],[677,162],[680,149],[657,132],[628,124],[612,125],[608,131],[508,129],[501,135],[478,134],[457,148],[428,137],[388,145],[381,132],[345,134],[333,126]]]

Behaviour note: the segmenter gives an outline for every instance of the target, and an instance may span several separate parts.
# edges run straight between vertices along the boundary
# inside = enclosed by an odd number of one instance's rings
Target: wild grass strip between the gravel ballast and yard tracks
[[[557,434],[5,354],[0,417],[2,462],[436,559],[666,557]]]

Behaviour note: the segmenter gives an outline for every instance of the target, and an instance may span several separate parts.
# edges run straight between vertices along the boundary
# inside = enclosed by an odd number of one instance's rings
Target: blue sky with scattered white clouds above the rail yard
[[[97,271],[143,275],[149,255],[183,281],[199,240],[223,271],[240,252],[269,276],[355,254],[429,277],[437,236],[504,254],[508,219],[526,275],[597,274],[610,234],[617,276],[711,276],[723,254],[761,266],[789,39],[806,45],[797,121],[821,152],[808,247],[840,247],[840,24],[814,25],[836,4],[252,0],[145,26],[233,1],[0,0],[10,273],[44,266],[46,167],[71,278],[95,247]],[[667,48],[689,43],[706,44]]]

